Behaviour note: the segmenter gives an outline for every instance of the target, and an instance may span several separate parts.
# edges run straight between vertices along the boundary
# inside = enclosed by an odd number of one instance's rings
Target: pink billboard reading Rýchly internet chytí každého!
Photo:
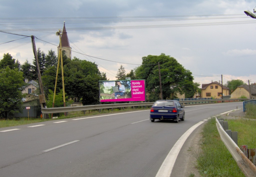
[[[145,80],[99,81],[100,102],[145,101]]]

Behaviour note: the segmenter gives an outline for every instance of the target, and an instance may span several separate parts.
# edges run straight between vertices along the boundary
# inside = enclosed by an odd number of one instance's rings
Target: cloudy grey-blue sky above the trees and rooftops
[[[1,0],[0,59],[23,64],[36,48],[58,53],[56,31],[65,27],[72,58],[98,64],[109,80],[142,57],[164,53],[207,84],[240,79],[256,83],[256,19],[250,0]],[[222,75],[222,77],[221,77]]]

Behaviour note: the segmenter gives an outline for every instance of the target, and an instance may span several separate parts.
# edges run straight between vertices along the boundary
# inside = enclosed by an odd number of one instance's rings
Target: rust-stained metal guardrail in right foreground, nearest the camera
[[[239,168],[243,171],[244,175],[246,175],[247,177],[255,176],[255,173],[256,173],[255,165],[244,155],[244,153],[240,150],[237,144],[227,134],[226,130],[223,129],[217,117],[216,117],[216,126],[220,134],[220,139],[225,144],[230,154],[232,155],[234,160],[237,162]]]

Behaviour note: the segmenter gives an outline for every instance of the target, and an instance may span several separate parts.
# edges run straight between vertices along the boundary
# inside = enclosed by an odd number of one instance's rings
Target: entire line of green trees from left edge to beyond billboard
[[[77,98],[83,105],[99,104],[99,81],[109,80],[106,73],[100,72],[98,65],[93,62],[76,57],[70,59],[65,55],[65,51],[62,52],[66,99]],[[58,57],[52,49],[45,54],[40,48],[37,49],[37,57],[46,100],[50,101],[55,88]],[[125,80],[126,77],[129,77],[131,80],[145,80],[146,92],[149,93],[147,101],[154,102],[159,99],[160,94],[158,62],[160,63],[164,99],[177,98],[177,93],[185,93],[188,98],[194,96],[199,83],[193,83],[192,73],[178,63],[175,58],[163,53],[159,56],[142,57],[142,65],[129,73],[126,73],[125,68],[121,65],[116,79]],[[11,115],[15,112],[14,110],[22,109],[24,95],[21,91],[26,86],[24,80],[37,81],[35,58],[32,64],[28,60],[20,64],[9,53],[4,54],[3,59],[0,60],[0,77],[2,81],[0,83],[0,115],[6,117],[7,113]],[[62,74],[59,69],[56,94],[61,93],[61,89]],[[50,105],[47,104],[47,107]],[[57,107],[56,104],[55,107]]]

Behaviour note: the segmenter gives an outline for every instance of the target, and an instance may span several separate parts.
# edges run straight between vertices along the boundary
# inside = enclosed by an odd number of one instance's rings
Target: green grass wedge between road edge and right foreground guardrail
[[[197,169],[202,176],[245,176],[221,141],[215,118],[202,130],[201,150],[196,153]]]

